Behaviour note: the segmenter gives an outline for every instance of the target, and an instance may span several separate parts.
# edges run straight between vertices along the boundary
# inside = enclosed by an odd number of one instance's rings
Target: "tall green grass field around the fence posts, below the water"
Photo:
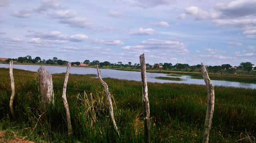
[[[114,104],[120,138],[108,118],[104,87],[95,75],[70,74],[67,99],[73,135],[67,135],[62,101],[64,74],[54,74],[54,108],[40,118],[40,89],[36,72],[14,69],[15,118],[10,116],[10,76],[0,68],[0,130],[35,142],[143,142],[141,82],[103,78]],[[210,142],[255,142],[256,90],[216,86]],[[153,142],[201,142],[207,89],[203,85],[150,83],[150,122]]]

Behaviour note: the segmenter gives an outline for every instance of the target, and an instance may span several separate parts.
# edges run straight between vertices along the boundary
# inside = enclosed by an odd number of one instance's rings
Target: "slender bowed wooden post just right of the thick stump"
[[[69,112],[69,108],[68,108],[68,101],[66,98],[66,89],[67,89],[67,84],[68,84],[68,75],[69,75],[69,71],[70,71],[70,65],[71,65],[71,63],[68,63],[66,76],[65,76],[65,80],[64,80],[63,91],[62,91],[62,98],[63,98],[64,107],[66,110],[67,123],[68,123],[68,135],[72,134],[70,112]]]

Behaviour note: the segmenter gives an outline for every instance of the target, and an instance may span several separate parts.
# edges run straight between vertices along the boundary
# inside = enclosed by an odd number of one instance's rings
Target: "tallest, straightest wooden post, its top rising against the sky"
[[[142,103],[143,103],[143,115],[144,115],[144,142],[151,143],[150,138],[150,110],[148,101],[148,85],[146,77],[146,63],[144,53],[140,55],[140,66],[141,66],[141,79],[142,79]]]

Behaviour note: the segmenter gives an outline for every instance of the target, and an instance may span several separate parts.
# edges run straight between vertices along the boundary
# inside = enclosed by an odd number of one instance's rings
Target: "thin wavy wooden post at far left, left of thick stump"
[[[12,65],[13,65],[12,60],[10,61],[9,64],[10,64],[9,70],[10,70],[11,89],[12,89],[12,95],[11,95],[11,98],[10,98],[10,110],[11,110],[12,116],[14,116],[13,100],[14,100],[15,88],[14,88],[14,78],[13,78],[13,72],[12,72]]]

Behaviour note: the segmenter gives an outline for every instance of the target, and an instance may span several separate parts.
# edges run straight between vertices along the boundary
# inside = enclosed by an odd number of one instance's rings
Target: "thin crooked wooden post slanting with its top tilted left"
[[[116,130],[116,132],[118,133],[118,136],[120,137],[120,134],[119,134],[119,131],[118,131],[118,128],[116,126],[116,121],[115,121],[115,118],[114,118],[114,113],[113,113],[113,106],[112,106],[112,100],[111,100],[111,96],[110,96],[110,92],[108,92],[108,84],[106,84],[106,82],[104,82],[100,76],[100,69],[98,68],[98,65],[97,65],[97,72],[98,72],[98,77],[100,79],[100,82],[103,84],[103,86],[105,87],[105,91],[106,91],[106,96],[107,96],[107,101],[108,101],[108,110],[109,110],[109,116],[110,116],[110,119],[114,125],[114,129]]]

